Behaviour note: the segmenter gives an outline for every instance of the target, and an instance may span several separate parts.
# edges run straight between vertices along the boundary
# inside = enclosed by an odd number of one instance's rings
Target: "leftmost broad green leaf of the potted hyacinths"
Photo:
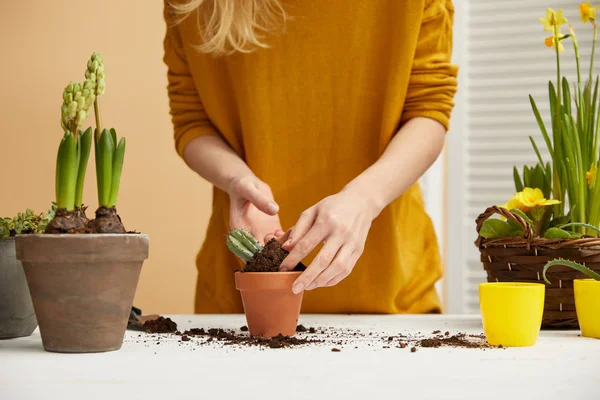
[[[72,133],[63,138],[58,150],[56,205],[72,211],[75,208],[77,184],[77,143]]]

